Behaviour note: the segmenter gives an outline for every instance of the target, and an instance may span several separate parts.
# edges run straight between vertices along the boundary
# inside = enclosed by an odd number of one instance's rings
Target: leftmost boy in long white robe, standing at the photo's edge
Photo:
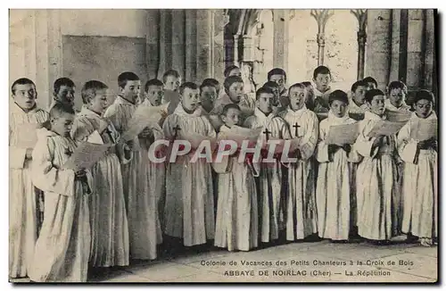
[[[43,219],[40,217],[43,213],[39,212],[40,207],[37,207],[40,190],[32,183],[31,165],[33,147],[37,142],[37,128],[48,120],[48,113],[37,108],[36,85],[30,79],[15,80],[11,89],[9,276],[22,278],[27,276],[28,265],[34,254],[38,228]]]

